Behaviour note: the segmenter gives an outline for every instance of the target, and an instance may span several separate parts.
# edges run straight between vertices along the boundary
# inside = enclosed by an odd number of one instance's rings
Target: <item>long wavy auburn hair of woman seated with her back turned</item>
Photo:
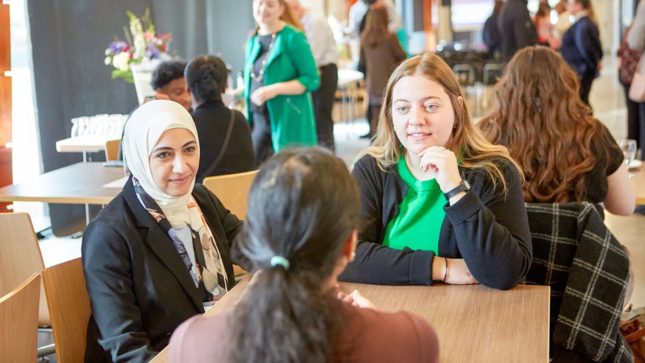
[[[595,137],[602,125],[590,116],[578,89],[578,78],[562,56],[542,46],[517,52],[495,85],[496,108],[479,129],[508,147],[522,167],[526,202],[585,200],[585,178],[596,162],[592,140],[610,141]]]

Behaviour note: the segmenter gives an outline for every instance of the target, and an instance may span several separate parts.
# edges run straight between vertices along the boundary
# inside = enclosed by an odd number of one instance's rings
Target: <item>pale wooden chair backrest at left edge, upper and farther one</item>
[[[0,213],[0,296],[9,293],[29,276],[43,272],[43,256],[32,220],[26,213]],[[41,287],[38,325],[49,326],[45,289]]]

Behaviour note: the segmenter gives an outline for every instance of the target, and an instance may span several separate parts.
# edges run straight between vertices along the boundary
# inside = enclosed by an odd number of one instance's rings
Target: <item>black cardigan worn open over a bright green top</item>
[[[471,190],[454,205],[444,207],[446,218],[439,234],[439,256],[464,258],[482,285],[510,289],[521,282],[531,265],[531,234],[515,166],[498,165],[501,182],[493,184],[483,171],[459,168]],[[361,191],[362,231],[356,258],[339,280],[384,285],[432,285],[432,251],[392,249],[382,245],[390,220],[408,192],[397,165],[388,172],[372,156],[356,161],[352,174]],[[422,238],[422,236],[419,236]]]

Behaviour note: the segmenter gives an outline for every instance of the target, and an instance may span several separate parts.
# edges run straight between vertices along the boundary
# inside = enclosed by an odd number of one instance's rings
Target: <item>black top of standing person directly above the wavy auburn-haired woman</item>
[[[526,0],[508,0],[499,13],[502,54],[507,61],[518,50],[537,43],[537,29],[528,12]]]

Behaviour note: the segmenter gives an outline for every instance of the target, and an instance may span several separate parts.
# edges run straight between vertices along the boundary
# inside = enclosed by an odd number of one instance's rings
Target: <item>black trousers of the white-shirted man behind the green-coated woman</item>
[[[332,109],[338,87],[338,67],[335,64],[321,67],[321,87],[312,92],[318,144],[334,150]]]

